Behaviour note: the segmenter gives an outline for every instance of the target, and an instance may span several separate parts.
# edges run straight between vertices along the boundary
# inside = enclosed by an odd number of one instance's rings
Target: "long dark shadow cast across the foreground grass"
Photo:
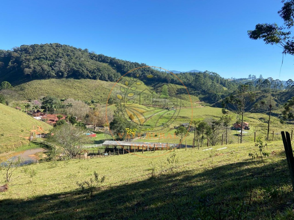
[[[76,190],[25,201],[4,199],[0,219],[233,219],[232,210],[249,202],[251,189],[249,219],[268,219],[283,210],[293,194],[287,191],[272,201],[258,189],[283,185],[290,185],[286,160],[264,167],[248,159],[200,173],[181,171],[98,188],[92,198]]]

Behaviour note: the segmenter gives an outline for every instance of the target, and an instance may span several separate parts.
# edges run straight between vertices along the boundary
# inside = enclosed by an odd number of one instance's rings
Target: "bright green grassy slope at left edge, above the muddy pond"
[[[47,132],[50,125],[24,112],[0,104],[0,153],[28,144],[31,131]]]

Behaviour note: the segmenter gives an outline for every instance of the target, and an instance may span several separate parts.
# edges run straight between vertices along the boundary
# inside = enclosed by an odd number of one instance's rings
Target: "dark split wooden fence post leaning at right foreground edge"
[[[293,150],[292,150],[292,145],[291,145],[290,134],[287,131],[286,131],[286,135],[285,135],[284,131],[282,131],[281,134],[282,134],[283,144],[284,144],[284,148],[285,148],[285,154],[286,154],[286,158],[287,158],[288,167],[290,170],[290,177],[292,180],[292,188],[294,191],[294,157],[293,157]]]

